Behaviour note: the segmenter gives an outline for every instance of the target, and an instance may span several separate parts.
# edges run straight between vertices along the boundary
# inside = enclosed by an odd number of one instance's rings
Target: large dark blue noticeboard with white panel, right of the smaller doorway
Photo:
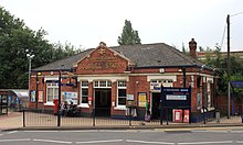
[[[161,88],[162,107],[178,108],[191,107],[191,88]]]

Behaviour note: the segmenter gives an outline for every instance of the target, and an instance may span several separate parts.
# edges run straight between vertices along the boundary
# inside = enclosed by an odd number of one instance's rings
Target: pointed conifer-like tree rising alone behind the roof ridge
[[[141,44],[138,31],[133,30],[130,21],[125,20],[122,36],[117,40],[119,45]]]

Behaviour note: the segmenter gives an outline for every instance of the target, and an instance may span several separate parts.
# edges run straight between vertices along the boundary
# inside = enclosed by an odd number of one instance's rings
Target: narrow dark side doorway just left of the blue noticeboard
[[[151,103],[151,119],[152,120],[159,120],[160,119],[160,110],[159,110],[159,100],[160,100],[161,93],[159,92],[152,92],[152,103]]]

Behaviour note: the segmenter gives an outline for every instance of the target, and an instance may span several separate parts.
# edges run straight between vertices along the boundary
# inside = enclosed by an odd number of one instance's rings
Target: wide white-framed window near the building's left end
[[[59,99],[59,83],[47,83],[47,101],[53,102],[53,99]]]

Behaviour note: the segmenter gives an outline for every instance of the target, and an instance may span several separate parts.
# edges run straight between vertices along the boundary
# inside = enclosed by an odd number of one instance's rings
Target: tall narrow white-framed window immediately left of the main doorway
[[[88,103],[88,81],[81,81],[81,104]]]

